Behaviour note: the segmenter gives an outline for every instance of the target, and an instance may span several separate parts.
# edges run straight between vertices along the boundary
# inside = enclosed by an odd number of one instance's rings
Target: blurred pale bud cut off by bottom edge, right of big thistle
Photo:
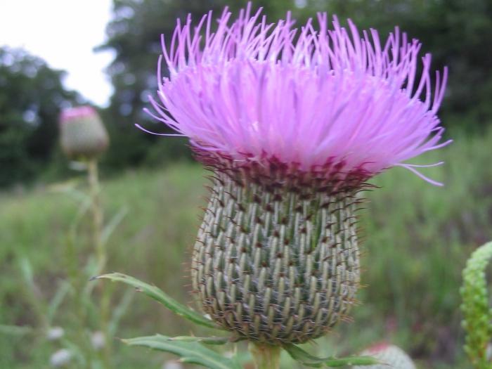
[[[415,369],[415,364],[410,356],[392,344],[375,344],[362,351],[361,355],[373,356],[380,361],[380,364],[354,366],[353,369]]]

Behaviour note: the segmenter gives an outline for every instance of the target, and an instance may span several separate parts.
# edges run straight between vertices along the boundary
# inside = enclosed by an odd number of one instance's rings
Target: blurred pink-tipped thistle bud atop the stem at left
[[[79,106],[61,112],[60,142],[68,157],[91,159],[108,148],[109,136],[98,112],[91,106]]]

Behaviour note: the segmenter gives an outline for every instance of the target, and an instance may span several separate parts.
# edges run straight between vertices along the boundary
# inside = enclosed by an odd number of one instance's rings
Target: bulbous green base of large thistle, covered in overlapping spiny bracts
[[[359,285],[355,190],[217,171],[195,243],[193,287],[227,330],[301,343],[347,318]]]

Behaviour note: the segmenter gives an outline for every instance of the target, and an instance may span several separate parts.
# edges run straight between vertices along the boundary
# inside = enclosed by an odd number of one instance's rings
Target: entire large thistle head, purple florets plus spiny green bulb
[[[350,21],[330,30],[326,14],[318,30],[290,14],[268,24],[251,4],[230,18],[178,21],[169,48],[162,37],[148,112],[213,172],[191,265],[205,312],[250,340],[306,342],[356,301],[356,194],[395,165],[422,176],[403,162],[446,145],[446,70],[433,94],[430,56],[419,66],[398,29],[380,44]]]

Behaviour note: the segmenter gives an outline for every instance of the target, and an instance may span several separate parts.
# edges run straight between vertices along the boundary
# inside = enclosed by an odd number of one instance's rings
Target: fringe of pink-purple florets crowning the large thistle
[[[432,89],[431,56],[418,56],[417,40],[396,28],[381,43],[375,30],[361,34],[336,17],[329,29],[325,13],[318,30],[311,20],[294,28],[289,13],[268,24],[251,4],[230,18],[226,8],[212,31],[211,12],[196,26],[188,16],[170,44],[162,37],[160,102],[151,99],[150,114],[188,136],[200,156],[365,179],[399,165],[440,184],[403,164],[450,142],[440,143],[436,115],[447,70]]]

